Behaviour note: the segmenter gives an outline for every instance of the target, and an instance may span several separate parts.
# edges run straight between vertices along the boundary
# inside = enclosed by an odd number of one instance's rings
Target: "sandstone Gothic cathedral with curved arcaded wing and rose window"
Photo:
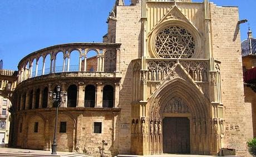
[[[58,151],[247,155],[252,107],[244,102],[239,13],[208,0],[116,0],[103,43],[54,45],[18,64],[9,143]],[[87,54],[94,52],[94,57]],[[77,53],[77,66],[71,64]],[[57,65],[61,59],[61,65]]]

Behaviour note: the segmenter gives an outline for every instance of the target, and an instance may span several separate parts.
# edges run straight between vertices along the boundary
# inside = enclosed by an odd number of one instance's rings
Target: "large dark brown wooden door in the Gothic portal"
[[[164,118],[164,153],[190,153],[190,126],[188,118]]]

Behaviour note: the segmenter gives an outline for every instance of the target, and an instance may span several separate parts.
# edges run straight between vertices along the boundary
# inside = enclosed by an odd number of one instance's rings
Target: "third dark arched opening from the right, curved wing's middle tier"
[[[70,85],[67,90],[67,107],[75,108],[77,103],[77,87],[75,84]]]

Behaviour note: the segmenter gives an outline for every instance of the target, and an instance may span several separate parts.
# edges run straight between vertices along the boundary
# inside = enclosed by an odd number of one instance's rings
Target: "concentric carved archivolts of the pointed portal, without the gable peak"
[[[175,97],[180,97],[186,102],[193,117],[209,118],[210,102],[198,89],[181,78],[174,78],[156,97],[151,98],[149,117],[161,118],[163,109]]]

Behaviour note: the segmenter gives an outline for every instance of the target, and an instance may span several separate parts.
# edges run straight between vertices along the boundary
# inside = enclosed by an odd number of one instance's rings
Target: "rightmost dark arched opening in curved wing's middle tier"
[[[103,108],[112,108],[114,106],[114,88],[111,85],[106,85],[103,88]]]

